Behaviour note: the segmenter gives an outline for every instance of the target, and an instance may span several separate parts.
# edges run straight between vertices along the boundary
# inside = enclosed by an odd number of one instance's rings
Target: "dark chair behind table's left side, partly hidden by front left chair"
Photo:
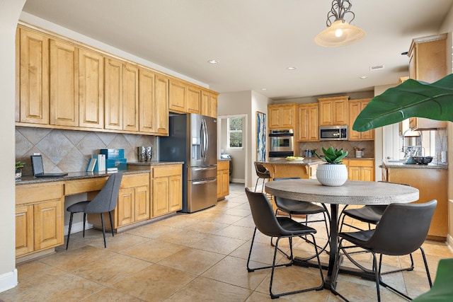
[[[274,181],[278,180],[294,180],[294,179],[300,179],[299,177],[293,177],[293,178],[274,178]],[[288,198],[283,198],[283,197],[274,197],[275,201],[275,206],[277,209],[275,209],[275,216],[277,216],[278,211],[282,211],[285,214],[289,215],[289,218],[292,219],[292,215],[305,215],[305,221],[304,223],[306,226],[308,226],[308,223],[315,223],[315,222],[324,222],[324,225],[326,226],[326,233],[327,233],[327,238],[329,238],[329,231],[328,231],[328,221],[330,221],[331,216],[327,211],[327,208],[324,204],[318,205],[314,204],[312,202],[300,202],[299,200],[294,200],[294,199],[288,199]],[[323,214],[323,219],[310,219],[309,216],[314,216],[315,214]],[[308,239],[306,239],[307,242],[312,243]],[[270,244],[273,245],[273,238],[270,238]],[[326,247],[328,245],[328,240],[326,240],[326,244],[323,247],[319,247],[320,250],[319,252],[323,252],[323,250],[326,250]],[[280,250],[280,252],[283,252]],[[288,258],[289,255],[287,253],[283,252]],[[310,260],[314,258],[316,255],[311,255],[309,257],[304,258],[304,260]]]

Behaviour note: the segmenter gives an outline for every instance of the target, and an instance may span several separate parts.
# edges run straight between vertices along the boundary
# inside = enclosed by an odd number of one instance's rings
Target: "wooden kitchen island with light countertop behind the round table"
[[[268,168],[270,177],[273,178],[294,178],[315,179],[316,167],[320,163],[324,163],[319,158],[304,158],[303,161],[287,161],[286,159],[278,159],[274,161],[259,161]]]

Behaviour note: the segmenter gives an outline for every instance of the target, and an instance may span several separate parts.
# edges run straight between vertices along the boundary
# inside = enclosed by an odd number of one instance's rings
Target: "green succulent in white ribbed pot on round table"
[[[322,185],[328,185],[332,187],[338,187],[343,185],[348,180],[348,169],[346,165],[343,165],[343,158],[348,156],[348,150],[343,151],[342,149],[333,149],[333,146],[328,149],[322,148],[324,157],[314,153],[314,155],[320,158],[322,161],[326,161],[316,168],[316,178],[321,182]]]

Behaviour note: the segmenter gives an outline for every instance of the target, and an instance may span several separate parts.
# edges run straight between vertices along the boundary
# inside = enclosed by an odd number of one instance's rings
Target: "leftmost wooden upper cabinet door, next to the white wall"
[[[21,28],[19,122],[49,124],[49,39]]]

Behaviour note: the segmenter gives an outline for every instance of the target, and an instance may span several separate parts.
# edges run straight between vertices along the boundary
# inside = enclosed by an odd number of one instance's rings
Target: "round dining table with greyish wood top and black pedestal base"
[[[340,269],[336,263],[338,257],[338,205],[357,204],[375,205],[408,203],[418,200],[418,189],[408,185],[391,182],[371,182],[348,180],[339,187],[321,185],[316,179],[288,179],[266,182],[265,192],[273,196],[299,200],[301,202],[317,202],[331,205],[331,238],[329,240],[329,262],[324,288],[336,292],[336,277]],[[296,262],[296,261],[295,261]],[[339,262],[339,260],[337,260]],[[300,265],[304,265],[300,263]],[[343,272],[340,270],[340,272]],[[344,272],[354,273],[352,270]],[[340,295],[341,296],[341,295]]]

